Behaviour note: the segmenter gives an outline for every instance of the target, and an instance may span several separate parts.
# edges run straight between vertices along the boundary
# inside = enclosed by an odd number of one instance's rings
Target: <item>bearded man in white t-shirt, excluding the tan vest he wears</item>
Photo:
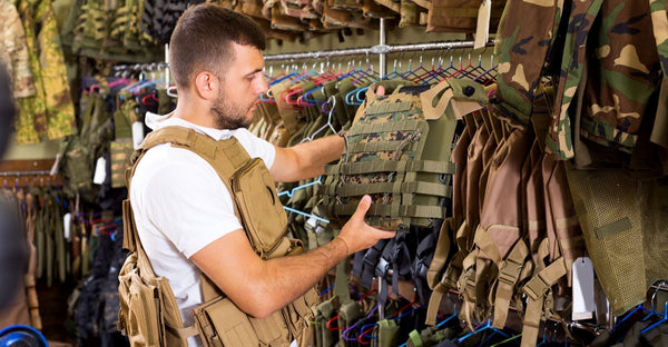
[[[264,33],[250,19],[215,4],[188,9],[170,41],[176,110],[150,116],[147,125],[154,130],[195,129],[215,140],[235,137],[252,158],[264,160],[275,181],[322,175],[323,166],[341,156],[341,137],[277,148],[246,129],[268,88],[262,72],[264,48]],[[213,167],[169,143],[144,155],[129,194],[144,249],[156,275],[168,278],[186,325],[193,323],[190,309],[202,304],[200,271],[239,309],[263,318],[306,293],[346,256],[394,236],[364,222],[371,205],[365,197],[334,241],[297,256],[263,260]]]

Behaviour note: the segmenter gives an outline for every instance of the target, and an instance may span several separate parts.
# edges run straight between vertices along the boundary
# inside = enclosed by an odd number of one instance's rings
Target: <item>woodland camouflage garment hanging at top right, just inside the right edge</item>
[[[633,151],[649,99],[658,90],[659,58],[649,3],[578,1],[573,3],[547,149],[561,159],[574,156],[568,108],[584,59],[591,62],[586,87],[587,117],[580,133],[596,143]]]

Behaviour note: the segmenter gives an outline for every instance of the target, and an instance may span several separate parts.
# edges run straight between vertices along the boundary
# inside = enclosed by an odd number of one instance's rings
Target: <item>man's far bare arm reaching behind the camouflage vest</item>
[[[269,169],[277,182],[294,182],[324,174],[324,165],[341,157],[344,140],[331,135],[292,147],[276,147],[276,158]]]

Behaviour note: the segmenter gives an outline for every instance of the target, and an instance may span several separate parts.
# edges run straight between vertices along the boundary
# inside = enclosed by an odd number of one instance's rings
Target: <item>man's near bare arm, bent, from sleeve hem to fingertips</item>
[[[190,259],[243,311],[263,318],[306,293],[346,256],[395,235],[364,222],[370,206],[371,198],[364,197],[337,238],[297,256],[263,260],[239,229],[204,247]]]

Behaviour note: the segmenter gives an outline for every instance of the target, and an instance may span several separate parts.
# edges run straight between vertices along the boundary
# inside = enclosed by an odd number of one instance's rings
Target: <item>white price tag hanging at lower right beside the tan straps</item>
[[[581,257],[573,261],[573,320],[591,319],[596,311],[593,266]]]

